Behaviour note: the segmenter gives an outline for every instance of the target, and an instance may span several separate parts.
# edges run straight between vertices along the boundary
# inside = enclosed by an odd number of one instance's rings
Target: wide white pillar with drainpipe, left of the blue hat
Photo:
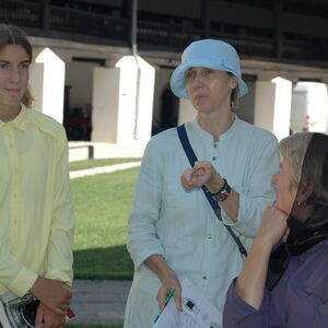
[[[147,142],[151,137],[155,70],[125,56],[115,68],[95,68],[92,141]]]

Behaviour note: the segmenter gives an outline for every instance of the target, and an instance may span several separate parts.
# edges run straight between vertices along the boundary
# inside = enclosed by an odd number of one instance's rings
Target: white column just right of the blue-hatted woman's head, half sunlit
[[[279,77],[271,81],[257,81],[255,126],[272,131],[278,140],[289,136],[291,101],[292,82]]]

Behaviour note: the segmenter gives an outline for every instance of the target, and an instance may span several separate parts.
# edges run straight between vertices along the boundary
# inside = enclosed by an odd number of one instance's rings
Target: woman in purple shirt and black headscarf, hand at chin
[[[224,328],[328,327],[328,136],[293,134],[280,152],[277,201],[229,289]]]

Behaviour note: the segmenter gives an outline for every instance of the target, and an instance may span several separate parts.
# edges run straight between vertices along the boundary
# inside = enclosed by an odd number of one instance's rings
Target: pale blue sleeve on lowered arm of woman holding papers
[[[152,139],[144,151],[129,216],[127,246],[136,270],[151,255],[163,255],[156,222],[161,211],[164,159],[154,143]]]

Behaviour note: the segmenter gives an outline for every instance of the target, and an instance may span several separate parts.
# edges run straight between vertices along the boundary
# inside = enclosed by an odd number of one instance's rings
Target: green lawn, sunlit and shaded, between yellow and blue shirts
[[[71,180],[75,278],[132,279],[126,238],[138,172],[136,167]]]

